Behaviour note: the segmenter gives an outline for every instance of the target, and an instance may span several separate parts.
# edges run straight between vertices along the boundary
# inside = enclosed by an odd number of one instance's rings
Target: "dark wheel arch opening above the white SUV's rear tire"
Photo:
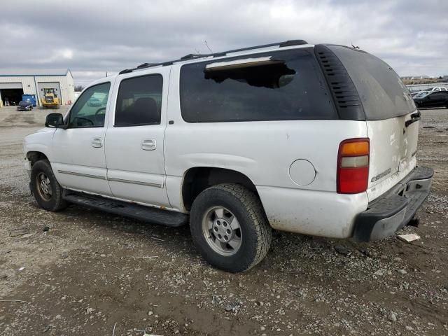
[[[222,183],[240,184],[260,198],[255,183],[246,174],[221,167],[192,167],[183,174],[181,188],[183,208],[190,211],[197,195],[211,186]]]

